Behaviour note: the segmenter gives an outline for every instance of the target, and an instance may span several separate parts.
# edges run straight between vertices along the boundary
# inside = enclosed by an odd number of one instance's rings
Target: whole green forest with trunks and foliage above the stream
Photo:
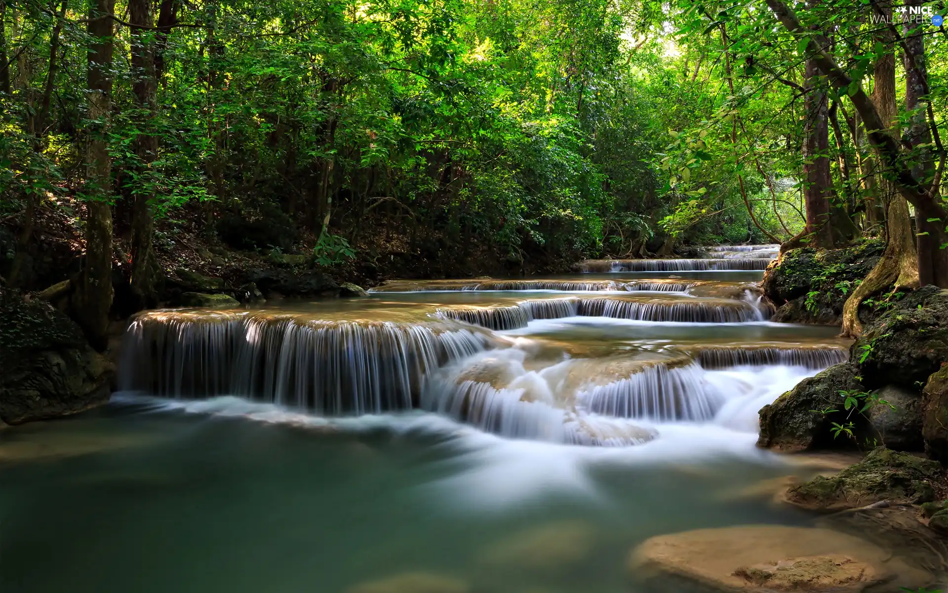
[[[70,279],[90,337],[208,246],[377,279],[882,237],[855,306],[948,287],[940,4],[0,10],[0,274]]]

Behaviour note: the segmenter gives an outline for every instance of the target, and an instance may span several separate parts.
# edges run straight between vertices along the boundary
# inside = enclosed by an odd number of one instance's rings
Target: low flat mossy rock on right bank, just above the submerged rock
[[[877,447],[859,463],[832,477],[817,476],[787,492],[787,500],[810,510],[846,510],[872,503],[931,502],[948,489],[938,461]]]

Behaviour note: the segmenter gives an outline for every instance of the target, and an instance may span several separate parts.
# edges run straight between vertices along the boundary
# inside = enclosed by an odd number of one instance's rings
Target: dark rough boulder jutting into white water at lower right
[[[866,418],[850,415],[839,393],[862,390],[858,369],[849,362],[835,364],[815,377],[800,381],[774,403],[761,408],[757,446],[783,453],[851,447],[848,435],[834,437],[834,422],[852,422],[853,436],[862,444],[868,435]]]

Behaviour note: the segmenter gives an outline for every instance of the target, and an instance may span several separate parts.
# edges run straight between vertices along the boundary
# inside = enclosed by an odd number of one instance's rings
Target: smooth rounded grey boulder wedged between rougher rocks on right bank
[[[921,451],[921,394],[898,385],[885,385],[873,394],[885,403],[866,411],[879,444],[893,451]]]

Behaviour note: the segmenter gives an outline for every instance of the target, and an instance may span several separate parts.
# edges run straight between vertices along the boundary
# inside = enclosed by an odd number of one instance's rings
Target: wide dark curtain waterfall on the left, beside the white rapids
[[[139,315],[125,341],[123,389],[238,395],[319,414],[410,409],[430,371],[487,346],[447,324],[172,311]]]

